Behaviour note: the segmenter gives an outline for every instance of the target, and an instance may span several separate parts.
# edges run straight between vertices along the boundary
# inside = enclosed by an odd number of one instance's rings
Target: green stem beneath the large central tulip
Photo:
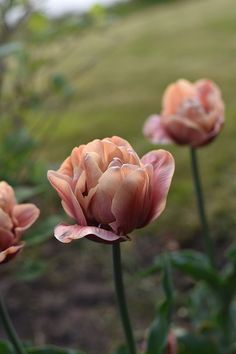
[[[113,251],[113,269],[114,269],[116,296],[117,296],[117,302],[120,310],[123,330],[126,337],[128,352],[129,354],[136,354],[135,342],[134,342],[132,327],[130,324],[129,313],[128,313],[128,308],[127,308],[126,298],[125,298],[123,278],[122,278],[120,244],[119,243],[114,244],[112,246],[112,251]]]

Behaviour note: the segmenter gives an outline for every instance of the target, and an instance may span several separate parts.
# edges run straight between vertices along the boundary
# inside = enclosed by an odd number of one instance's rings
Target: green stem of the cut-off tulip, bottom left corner
[[[9,317],[6,305],[0,295],[0,320],[5,328],[5,331],[14,347],[16,354],[27,354]]]

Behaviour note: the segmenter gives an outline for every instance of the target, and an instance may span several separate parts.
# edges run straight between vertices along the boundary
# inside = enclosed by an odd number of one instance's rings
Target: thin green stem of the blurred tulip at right
[[[193,182],[195,186],[195,192],[197,197],[197,206],[199,217],[202,225],[202,234],[203,234],[203,241],[206,250],[206,254],[212,266],[214,266],[214,257],[213,257],[213,244],[212,239],[209,232],[206,212],[205,212],[205,205],[204,205],[204,198],[202,193],[202,186],[201,180],[199,175],[199,168],[198,168],[198,161],[197,161],[197,151],[194,148],[190,148],[191,153],[191,164],[192,164],[192,174],[193,174]]]

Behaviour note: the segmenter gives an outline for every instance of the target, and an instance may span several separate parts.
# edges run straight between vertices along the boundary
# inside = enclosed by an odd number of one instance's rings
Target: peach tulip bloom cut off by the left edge
[[[0,263],[13,258],[24,246],[23,232],[38,218],[34,204],[17,204],[12,187],[0,182]]]

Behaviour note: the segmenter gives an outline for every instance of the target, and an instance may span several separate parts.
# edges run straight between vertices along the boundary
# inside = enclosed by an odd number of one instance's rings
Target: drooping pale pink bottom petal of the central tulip
[[[115,242],[119,239],[124,239],[124,237],[120,237],[113,232],[102,229],[100,227],[65,224],[56,226],[54,235],[59,241],[63,243],[69,243],[73,240],[89,236],[95,236],[106,242]]]

